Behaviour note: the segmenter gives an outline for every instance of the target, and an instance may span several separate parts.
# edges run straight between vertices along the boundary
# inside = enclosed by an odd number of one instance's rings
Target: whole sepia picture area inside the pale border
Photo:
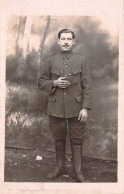
[[[105,24],[9,18],[5,182],[117,182],[118,27]]]

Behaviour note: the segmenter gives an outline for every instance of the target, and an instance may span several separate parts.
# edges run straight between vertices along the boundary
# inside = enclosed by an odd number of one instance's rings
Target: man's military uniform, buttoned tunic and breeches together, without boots
[[[70,82],[66,89],[53,87],[53,81],[59,77]],[[68,123],[72,145],[81,145],[83,125],[78,115],[82,108],[91,109],[91,78],[86,59],[73,51],[60,51],[43,65],[38,85],[48,93],[47,113],[55,142],[65,142]]]

